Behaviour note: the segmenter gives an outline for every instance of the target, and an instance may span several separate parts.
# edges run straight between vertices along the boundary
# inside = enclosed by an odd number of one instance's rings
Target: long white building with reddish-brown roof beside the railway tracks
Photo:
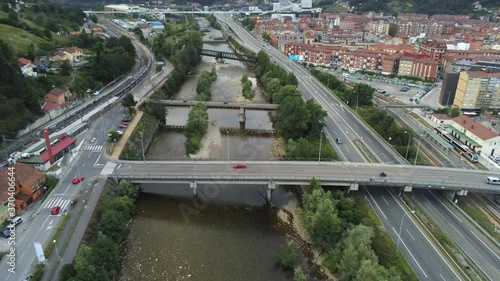
[[[485,156],[498,155],[500,152],[498,132],[466,115],[453,118],[448,128],[456,139],[475,152]]]

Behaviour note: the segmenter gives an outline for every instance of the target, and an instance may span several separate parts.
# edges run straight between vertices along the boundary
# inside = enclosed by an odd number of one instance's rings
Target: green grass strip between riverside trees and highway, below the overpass
[[[382,223],[373,209],[367,204],[364,195],[353,196],[356,206],[366,211],[367,216],[363,224],[373,227],[375,236],[372,240],[372,249],[379,259],[379,264],[386,268],[393,267],[401,276],[403,281],[417,281],[418,278],[405,260],[401,252],[396,249],[396,244],[385,231],[381,230]]]

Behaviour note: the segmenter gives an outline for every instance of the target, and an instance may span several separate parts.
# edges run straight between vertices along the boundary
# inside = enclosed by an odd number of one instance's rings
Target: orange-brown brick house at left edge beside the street
[[[46,178],[44,173],[22,163],[15,163],[9,168],[13,169],[16,174],[14,181],[14,205],[17,215],[45,193],[45,188],[43,187]],[[5,198],[5,194],[9,194],[9,186],[11,184],[8,181],[9,168],[5,168],[0,172],[0,201],[5,200],[5,202],[0,202],[2,206],[9,200],[8,197],[7,199]],[[3,217],[3,214],[0,214],[0,217]]]

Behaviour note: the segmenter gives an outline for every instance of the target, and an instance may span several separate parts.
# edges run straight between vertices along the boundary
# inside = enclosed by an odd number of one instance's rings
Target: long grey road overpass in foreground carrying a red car
[[[492,172],[429,166],[344,163],[246,161],[245,169],[233,169],[234,161],[119,161],[113,176],[135,183],[185,183],[197,195],[199,184],[223,188],[231,184],[267,185],[267,197],[276,185],[307,185],[311,178],[324,186],[394,187],[438,189],[467,195],[469,191],[499,193],[500,186],[485,183]],[[239,162],[241,163],[241,162]],[[380,172],[387,177],[380,177]]]

